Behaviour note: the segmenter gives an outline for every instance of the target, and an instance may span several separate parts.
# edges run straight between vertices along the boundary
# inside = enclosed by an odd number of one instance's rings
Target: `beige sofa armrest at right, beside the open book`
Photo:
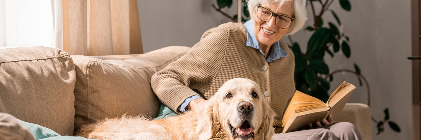
[[[350,122],[357,127],[363,140],[371,140],[370,107],[364,103],[346,103],[342,112],[333,116],[333,123]]]

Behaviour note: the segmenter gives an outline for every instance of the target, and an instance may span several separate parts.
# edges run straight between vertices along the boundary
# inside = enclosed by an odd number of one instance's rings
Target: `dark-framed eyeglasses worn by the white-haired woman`
[[[257,18],[259,18],[261,21],[269,21],[272,16],[275,16],[275,24],[279,28],[285,29],[288,28],[288,26],[291,25],[291,22],[294,20],[294,18],[290,18],[288,16],[280,15],[273,13],[267,8],[264,8],[260,5],[257,5]]]

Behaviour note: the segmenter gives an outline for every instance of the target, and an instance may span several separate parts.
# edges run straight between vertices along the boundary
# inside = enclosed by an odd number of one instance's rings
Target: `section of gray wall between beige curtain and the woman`
[[[216,0],[138,0],[144,52],[172,45],[192,47],[202,34],[229,22],[211,4]],[[223,10],[235,13],[237,5]]]

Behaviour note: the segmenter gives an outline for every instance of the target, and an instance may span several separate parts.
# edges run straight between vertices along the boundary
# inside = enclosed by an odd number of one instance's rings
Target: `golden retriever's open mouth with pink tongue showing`
[[[241,126],[238,128],[231,127],[231,134],[232,138],[236,139],[237,137],[241,137],[244,140],[247,140],[248,138],[252,137],[254,139],[254,130],[251,128],[250,123],[245,120],[242,122]]]

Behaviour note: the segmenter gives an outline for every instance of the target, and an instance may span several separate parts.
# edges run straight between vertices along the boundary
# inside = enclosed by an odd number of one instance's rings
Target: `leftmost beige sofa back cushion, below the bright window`
[[[48,47],[0,50],[3,112],[72,135],[75,66],[63,50]]]

